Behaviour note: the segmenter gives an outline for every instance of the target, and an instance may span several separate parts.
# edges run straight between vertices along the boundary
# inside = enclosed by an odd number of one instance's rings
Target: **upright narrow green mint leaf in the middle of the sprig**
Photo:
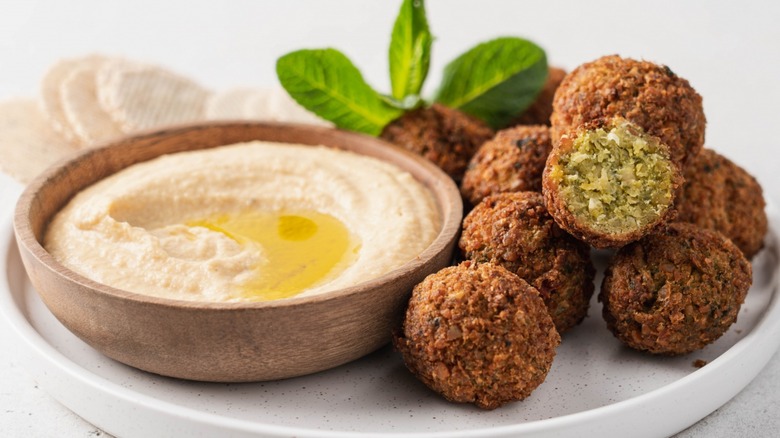
[[[399,101],[419,95],[431,62],[433,36],[423,0],[404,0],[390,39],[390,84]]]

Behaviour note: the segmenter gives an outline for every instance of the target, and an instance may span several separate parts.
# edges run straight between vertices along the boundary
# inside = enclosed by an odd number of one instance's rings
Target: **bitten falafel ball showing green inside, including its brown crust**
[[[625,245],[668,221],[681,185],[666,145],[621,117],[564,134],[542,175],[550,215],[597,248]]]

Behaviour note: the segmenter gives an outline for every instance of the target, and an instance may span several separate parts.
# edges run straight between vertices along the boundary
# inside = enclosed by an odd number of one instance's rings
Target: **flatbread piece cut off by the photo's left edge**
[[[0,102],[0,170],[21,183],[77,148],[55,132],[35,99]]]

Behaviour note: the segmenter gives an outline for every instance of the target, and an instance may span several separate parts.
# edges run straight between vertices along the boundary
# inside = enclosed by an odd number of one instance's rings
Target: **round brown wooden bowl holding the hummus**
[[[163,154],[249,140],[323,144],[391,162],[433,193],[441,231],[419,257],[375,280],[259,303],[189,302],[119,290],[64,267],[41,245],[52,217],[96,181]],[[33,286],[57,319],[89,345],[156,374],[241,382],[314,373],[386,344],[414,285],[451,262],[462,210],[446,174],[379,139],[314,126],[226,122],[125,138],[48,169],[22,194],[14,229]]]

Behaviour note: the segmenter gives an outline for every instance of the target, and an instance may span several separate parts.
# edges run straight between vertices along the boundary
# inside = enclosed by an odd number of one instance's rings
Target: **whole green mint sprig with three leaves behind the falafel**
[[[433,36],[423,0],[403,0],[388,59],[391,93],[371,88],[335,49],[298,50],[276,62],[276,73],[301,106],[337,127],[380,135],[391,121],[425,104]],[[536,98],[547,78],[544,51],[521,38],[477,45],[450,62],[434,100],[501,128]]]

